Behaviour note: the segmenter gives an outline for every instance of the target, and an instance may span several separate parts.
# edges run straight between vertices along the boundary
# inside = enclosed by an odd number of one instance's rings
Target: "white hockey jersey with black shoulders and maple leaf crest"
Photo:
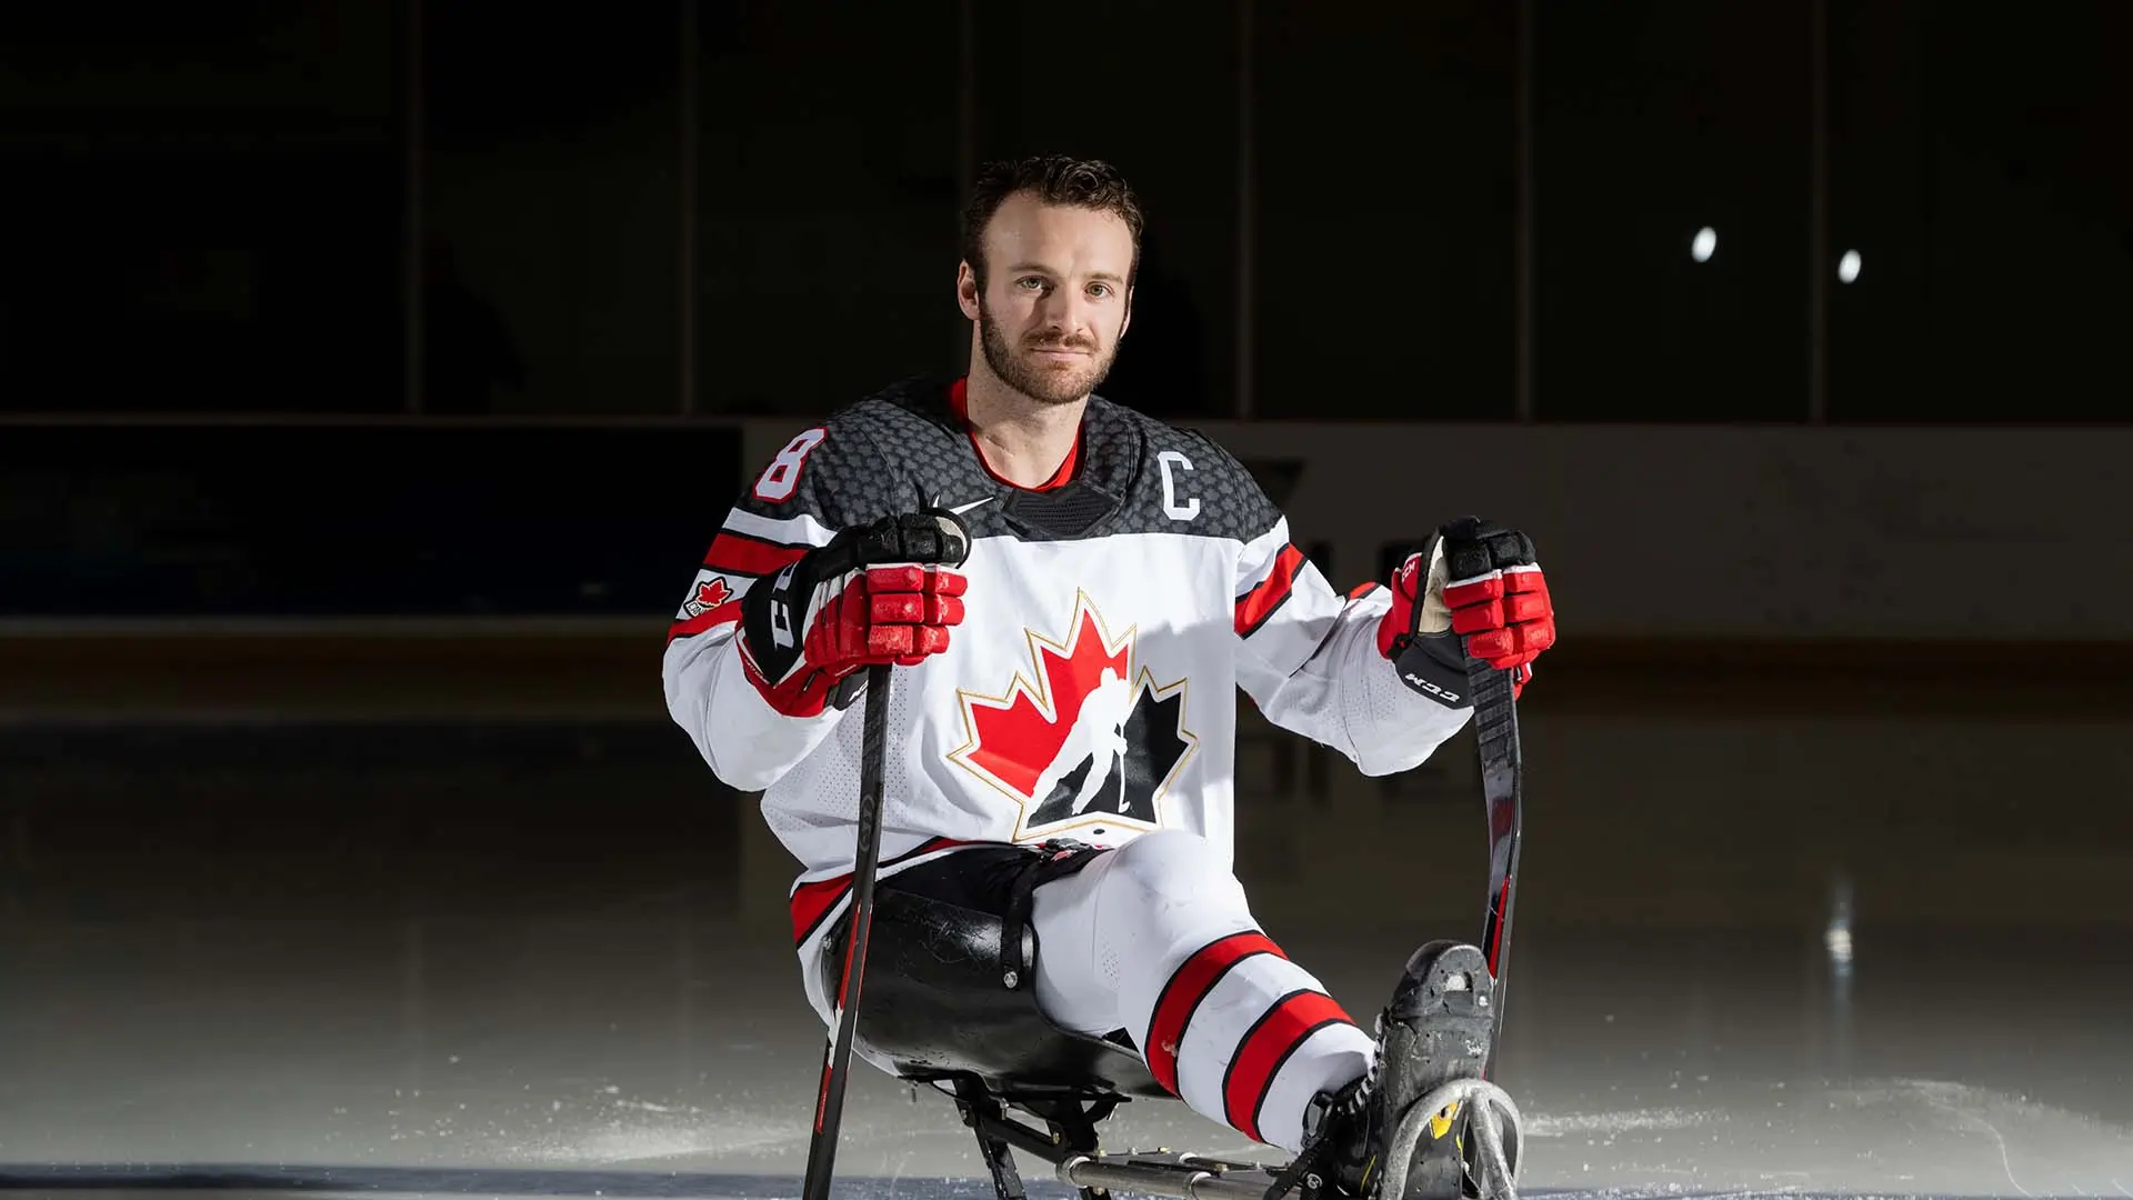
[[[894,675],[883,873],[958,843],[1152,828],[1229,854],[1239,688],[1367,775],[1423,762],[1470,717],[1378,653],[1389,591],[1337,594],[1205,436],[1092,397],[1054,487],[1017,489],[960,401],[960,380],[913,380],[793,438],[727,512],[668,636],[668,709],[719,779],[764,792],[802,865],[802,946],[853,863],[862,705],[774,711],[734,645],[738,600],[847,525],[945,506],[973,534],[949,649]]]

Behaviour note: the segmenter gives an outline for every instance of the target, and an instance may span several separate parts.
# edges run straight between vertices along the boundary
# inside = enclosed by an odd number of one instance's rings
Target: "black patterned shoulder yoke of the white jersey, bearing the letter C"
[[[845,521],[941,506],[960,510],[975,538],[1252,540],[1280,517],[1250,472],[1214,442],[1101,395],[1084,412],[1071,483],[1047,491],[1000,483],[979,461],[947,391],[949,380],[907,380],[830,421],[830,442],[864,440],[872,451],[843,459],[838,465],[855,470],[838,470],[830,483]]]

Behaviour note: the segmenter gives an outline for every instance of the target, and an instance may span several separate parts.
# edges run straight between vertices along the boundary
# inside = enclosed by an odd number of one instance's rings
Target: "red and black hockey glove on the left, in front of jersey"
[[[971,534],[949,512],[907,512],[843,530],[740,598],[740,658],[772,709],[845,707],[862,666],[917,666],[962,621]]]

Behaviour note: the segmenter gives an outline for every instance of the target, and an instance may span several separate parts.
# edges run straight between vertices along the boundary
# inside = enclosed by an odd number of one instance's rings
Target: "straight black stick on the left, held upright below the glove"
[[[836,1132],[845,1123],[845,1083],[851,1078],[851,1036],[860,1025],[860,982],[866,978],[866,933],[875,925],[875,867],[881,860],[881,790],[887,758],[889,666],[866,668],[866,726],[860,743],[860,854],[851,865],[851,935],[845,972],[836,982],[836,1027],[821,1057],[815,1093],[815,1132],[806,1147],[802,1200],[830,1200],[836,1172]]]

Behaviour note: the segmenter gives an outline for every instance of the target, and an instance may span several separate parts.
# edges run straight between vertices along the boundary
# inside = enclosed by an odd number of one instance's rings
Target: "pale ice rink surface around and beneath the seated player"
[[[2122,880],[2097,865],[2122,854],[2120,833],[2039,850],[1990,807],[2050,764],[2124,756],[2122,741],[1802,728],[1536,722],[1497,1072],[1529,1121],[1527,1194],[2133,1198],[2127,933],[2035,920],[2107,907]],[[1890,745],[1901,762],[1860,794],[1811,788],[1847,777],[1817,756],[1869,747],[1879,764]],[[508,803],[452,809],[480,764],[431,771],[422,790],[309,754],[286,775],[188,754],[181,771],[87,754],[34,777],[0,756],[0,801],[41,788],[0,850],[0,1189],[798,1196],[823,1033],[789,931],[774,905],[734,912],[734,871],[755,867],[695,875],[680,818],[619,816],[631,788],[697,788],[700,764],[616,784],[621,767],[597,764],[644,756],[587,752],[597,771],[544,760],[540,779],[506,779]],[[1696,796],[1670,796],[1664,822],[1608,824],[1732,760],[1751,771],[1723,803],[1747,824]],[[1943,771],[1930,796],[1896,788],[1928,769]],[[1367,856],[1427,828],[1433,805],[1478,856],[1457,777],[1444,794],[1376,788],[1337,777],[1325,803],[1269,803],[1250,828],[1273,833],[1241,848],[1269,931],[1363,1014],[1418,937],[1453,929],[1442,912],[1478,922],[1468,878],[1431,880],[1376,925],[1327,899],[1412,888],[1412,867]],[[224,794],[239,799],[211,803]],[[158,816],[164,801],[183,818]],[[1971,816],[1937,816],[1950,807]],[[467,822],[465,846],[508,854],[439,846],[420,822],[442,811]],[[527,835],[535,820],[559,833]],[[267,833],[258,850],[194,833],[215,822]],[[1817,905],[1843,856],[1879,878],[1860,875],[1834,974]],[[781,890],[774,867],[749,886]],[[2046,905],[2037,880],[2067,890]],[[1180,1104],[1126,1106],[1107,1144],[1271,1157]],[[951,1104],[870,1070],[838,1164],[851,1198],[990,1196]],[[1064,1191],[1022,1168],[1032,1194]]]

